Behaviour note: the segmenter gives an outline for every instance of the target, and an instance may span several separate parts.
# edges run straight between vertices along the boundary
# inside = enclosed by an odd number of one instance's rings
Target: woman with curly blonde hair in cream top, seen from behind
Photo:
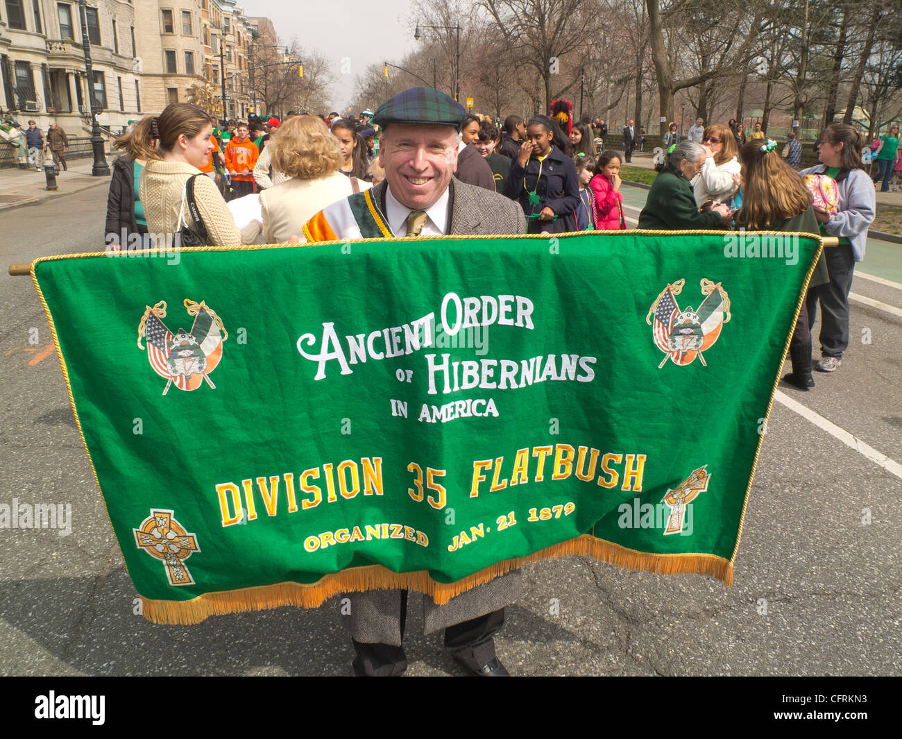
[[[284,244],[304,241],[302,226],[327,205],[372,187],[369,182],[338,171],[343,159],[338,140],[316,115],[297,115],[279,129],[267,147],[272,167],[291,179],[260,193],[263,241]]]

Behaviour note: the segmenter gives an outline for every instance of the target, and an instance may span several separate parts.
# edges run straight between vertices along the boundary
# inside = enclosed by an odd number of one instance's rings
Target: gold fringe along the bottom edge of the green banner
[[[303,585],[286,582],[261,587],[245,587],[220,593],[207,593],[189,601],[152,600],[141,597],[144,618],[154,624],[199,624],[211,615],[262,611],[284,605],[317,608],[327,598],[340,593],[365,590],[417,590],[430,596],[438,605],[445,605],[473,587],[521,568],[523,565],[558,557],[589,556],[614,567],[641,569],[662,575],[697,574],[716,577],[727,587],[732,586],[732,562],[713,554],[650,554],[630,550],[611,541],[595,539],[589,534],[562,541],[528,557],[505,559],[481,569],[454,583],[439,583],[428,572],[397,573],[380,565],[350,568],[326,575],[318,582]]]

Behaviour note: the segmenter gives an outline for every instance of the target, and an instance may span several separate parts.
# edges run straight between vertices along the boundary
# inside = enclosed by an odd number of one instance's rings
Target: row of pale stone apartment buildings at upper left
[[[247,115],[252,34],[235,0],[87,0],[93,79],[82,47],[78,0],[0,0],[0,112],[46,130],[56,120],[70,135],[90,131],[90,98],[100,125],[127,122],[187,102],[192,85]],[[222,54],[220,54],[220,46]]]

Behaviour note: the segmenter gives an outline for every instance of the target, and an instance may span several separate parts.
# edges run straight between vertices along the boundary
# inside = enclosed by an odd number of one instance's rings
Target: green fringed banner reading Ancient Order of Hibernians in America
[[[589,554],[732,581],[821,248],[797,234],[378,239],[32,274],[144,614],[446,602]]]

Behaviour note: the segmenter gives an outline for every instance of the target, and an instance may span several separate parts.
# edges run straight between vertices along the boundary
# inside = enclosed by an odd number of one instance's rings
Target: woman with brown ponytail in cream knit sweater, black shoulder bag
[[[179,231],[185,186],[190,177],[201,173],[199,167],[207,163],[209,152],[213,151],[213,119],[197,106],[173,103],[153,119],[150,135],[160,142],[160,159],[147,162],[141,172],[138,192],[144,204],[147,230],[159,242],[160,235],[169,240]],[[213,180],[206,176],[196,178],[194,199],[207,228],[208,245],[256,242],[260,221],[252,221],[239,231]],[[194,226],[188,208],[184,208],[184,214],[188,225]]]

